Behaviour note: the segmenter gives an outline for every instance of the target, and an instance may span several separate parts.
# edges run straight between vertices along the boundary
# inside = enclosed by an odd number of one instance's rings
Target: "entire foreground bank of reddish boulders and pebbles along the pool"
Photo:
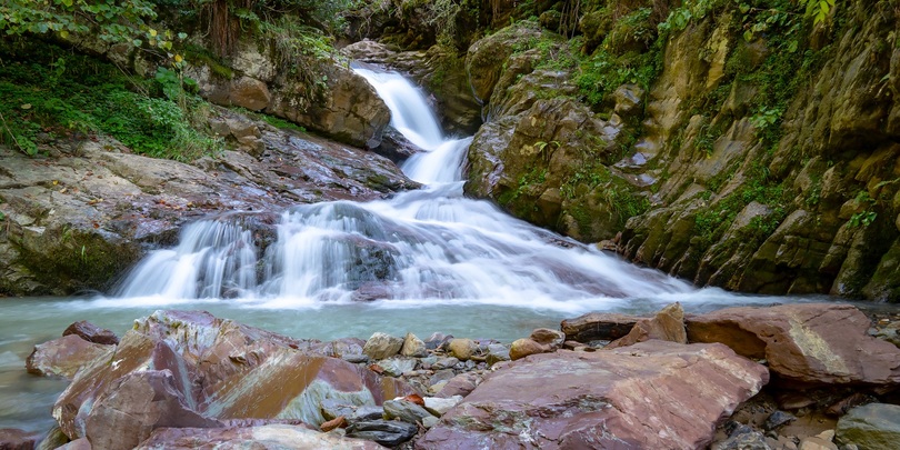
[[[503,344],[320,342],[157,311],[121,339],[79,322],[36,347],[29,371],[71,380],[59,427],[0,430],[0,446],[890,449],[897,319],[834,303],[686,317],[676,303]]]

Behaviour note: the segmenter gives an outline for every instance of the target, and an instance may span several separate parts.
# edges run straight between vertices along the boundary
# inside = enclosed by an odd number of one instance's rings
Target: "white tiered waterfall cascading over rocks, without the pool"
[[[262,256],[239,221],[200,221],[184,229],[176,249],[151,252],[119,296],[552,308],[693,291],[464,198],[462,168],[472,138],[446,138],[422,92],[400,74],[357,71],[391,109],[391,124],[424,150],[402,169],[427,188],[388,200],[291,208]]]

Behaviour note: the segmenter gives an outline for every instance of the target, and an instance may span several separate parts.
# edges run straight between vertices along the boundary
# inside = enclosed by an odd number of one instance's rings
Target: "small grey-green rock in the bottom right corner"
[[[838,442],[860,449],[896,449],[900,442],[900,406],[870,403],[853,408],[838,420]]]

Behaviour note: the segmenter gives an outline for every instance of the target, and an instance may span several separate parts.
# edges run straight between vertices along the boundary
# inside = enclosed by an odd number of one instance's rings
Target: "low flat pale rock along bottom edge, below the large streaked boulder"
[[[354,449],[374,450],[374,442],[321,433],[304,427],[266,424],[243,428],[162,428],[141,442],[139,450],[158,449]]]

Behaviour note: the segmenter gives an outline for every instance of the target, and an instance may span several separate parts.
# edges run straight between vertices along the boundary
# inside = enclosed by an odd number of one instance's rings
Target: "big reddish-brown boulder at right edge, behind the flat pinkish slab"
[[[849,304],[806,303],[729,308],[688,319],[691,342],[722,342],[766,359],[787,381],[900,382],[900,349],[867,334],[870,321]]]

